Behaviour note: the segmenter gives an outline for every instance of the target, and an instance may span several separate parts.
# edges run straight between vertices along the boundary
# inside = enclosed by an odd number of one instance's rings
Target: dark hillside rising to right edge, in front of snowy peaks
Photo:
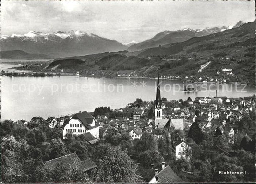
[[[171,43],[146,49],[138,54],[139,57],[150,55],[171,55],[177,53],[195,53],[201,56],[218,56],[220,53],[236,54],[237,49],[245,52],[246,47],[255,46],[255,22],[246,23],[240,27],[229,29],[202,37],[194,37],[185,42]],[[221,55],[221,54],[220,54]]]

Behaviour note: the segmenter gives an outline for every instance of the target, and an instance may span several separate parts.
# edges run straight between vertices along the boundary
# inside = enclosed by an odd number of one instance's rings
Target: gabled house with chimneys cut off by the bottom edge
[[[169,165],[165,167],[165,162],[162,163],[162,170],[158,173],[158,169],[155,169],[155,176],[148,182],[149,184],[156,183],[177,183],[183,182],[179,176],[171,169]]]

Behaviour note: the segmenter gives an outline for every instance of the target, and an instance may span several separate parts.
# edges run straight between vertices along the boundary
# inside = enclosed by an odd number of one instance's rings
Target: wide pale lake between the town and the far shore
[[[214,83],[193,84],[198,92],[183,92],[182,81],[160,80],[161,97],[168,100],[215,96]],[[136,98],[151,101],[156,97],[155,79],[88,78],[78,76],[1,76],[1,120],[33,116],[62,116],[79,111],[92,112],[100,106],[125,107]],[[218,96],[248,97],[253,86],[219,84]]]

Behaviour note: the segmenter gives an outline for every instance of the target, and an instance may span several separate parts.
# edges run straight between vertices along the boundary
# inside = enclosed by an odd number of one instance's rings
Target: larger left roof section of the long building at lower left
[[[48,169],[52,170],[57,166],[57,164],[61,164],[63,165],[63,167],[69,167],[69,165],[73,164],[74,162],[80,162],[80,161],[81,160],[77,156],[77,154],[72,153],[72,154],[64,155],[43,163]]]

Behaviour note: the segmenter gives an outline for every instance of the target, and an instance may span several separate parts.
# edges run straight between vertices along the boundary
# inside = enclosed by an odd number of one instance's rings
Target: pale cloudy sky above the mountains
[[[1,1],[1,36],[80,30],[128,43],[165,30],[203,29],[255,20],[252,1]]]

